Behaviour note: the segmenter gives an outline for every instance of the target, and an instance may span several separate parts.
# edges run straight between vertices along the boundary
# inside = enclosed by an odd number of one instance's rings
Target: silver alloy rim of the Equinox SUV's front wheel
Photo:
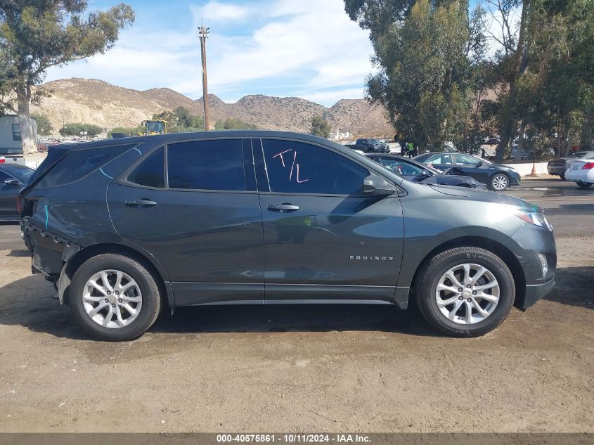
[[[464,263],[446,271],[437,283],[435,301],[449,321],[473,325],[496,309],[501,289],[497,278],[480,264]]]

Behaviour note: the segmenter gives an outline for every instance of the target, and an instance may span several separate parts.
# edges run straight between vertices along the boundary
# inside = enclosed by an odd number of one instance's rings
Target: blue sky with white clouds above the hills
[[[202,96],[197,28],[207,40],[209,93],[226,102],[246,94],[298,96],[323,105],[363,97],[373,70],[368,33],[342,0],[127,0],[134,25],[104,55],[54,67],[46,80],[84,77],[117,86],[167,86]],[[89,1],[89,9],[116,1]]]

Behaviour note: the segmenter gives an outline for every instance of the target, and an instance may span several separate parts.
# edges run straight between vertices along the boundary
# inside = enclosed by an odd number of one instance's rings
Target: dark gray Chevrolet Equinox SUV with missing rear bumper
[[[55,146],[20,209],[34,273],[105,340],[142,335],[167,305],[411,299],[442,332],[482,335],[546,295],[557,260],[529,202],[274,131]]]

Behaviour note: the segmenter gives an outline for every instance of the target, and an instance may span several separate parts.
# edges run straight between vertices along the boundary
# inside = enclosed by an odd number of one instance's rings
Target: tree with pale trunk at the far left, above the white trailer
[[[125,4],[86,14],[87,6],[85,0],[0,2],[0,60],[9,67],[9,72],[0,70],[0,94],[3,89],[15,93],[25,153],[37,150],[29,105],[49,93],[32,89],[46,70],[104,53],[134,21],[134,11]],[[3,105],[14,110],[14,102]]]

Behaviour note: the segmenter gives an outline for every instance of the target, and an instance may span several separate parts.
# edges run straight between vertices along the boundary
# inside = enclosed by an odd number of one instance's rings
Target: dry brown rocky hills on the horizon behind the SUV
[[[202,99],[194,101],[168,88],[146,91],[114,86],[96,79],[64,79],[48,82],[51,91],[32,112],[49,116],[56,131],[63,122],[97,124],[105,129],[134,127],[153,113],[183,106],[202,115]],[[261,94],[225,103],[209,95],[211,126],[218,119],[238,117],[260,129],[309,131],[311,118],[324,115],[332,130],[349,130],[351,134],[392,134],[382,108],[372,107],[363,99],[343,99],[330,108],[295,97],[273,97]]]

